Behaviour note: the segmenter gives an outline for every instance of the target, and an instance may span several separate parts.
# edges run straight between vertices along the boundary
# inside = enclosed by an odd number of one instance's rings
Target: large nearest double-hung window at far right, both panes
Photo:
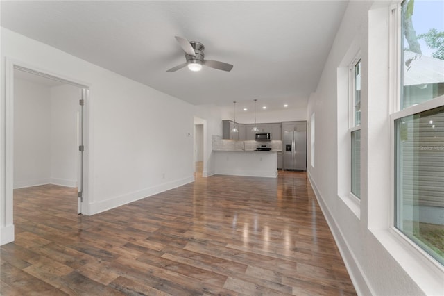
[[[394,225],[444,265],[444,2],[402,3]]]

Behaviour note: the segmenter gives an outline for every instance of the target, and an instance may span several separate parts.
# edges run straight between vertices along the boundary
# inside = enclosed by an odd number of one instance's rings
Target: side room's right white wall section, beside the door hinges
[[[82,90],[73,85],[51,88],[51,183],[77,187],[78,111]]]

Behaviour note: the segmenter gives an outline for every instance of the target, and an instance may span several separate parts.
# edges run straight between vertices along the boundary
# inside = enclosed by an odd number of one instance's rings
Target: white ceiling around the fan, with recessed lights
[[[303,108],[348,1],[1,1],[1,26],[191,104]],[[174,36],[234,65],[185,62]],[[240,108],[240,106],[239,106]]]

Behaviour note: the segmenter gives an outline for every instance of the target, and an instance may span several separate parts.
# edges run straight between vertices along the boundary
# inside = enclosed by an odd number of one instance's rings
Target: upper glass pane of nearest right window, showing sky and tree
[[[444,3],[402,3],[401,109],[444,94]]]

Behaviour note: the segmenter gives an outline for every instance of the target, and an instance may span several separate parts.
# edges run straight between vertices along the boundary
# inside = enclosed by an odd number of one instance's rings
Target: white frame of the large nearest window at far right
[[[407,1],[407,0],[406,0]],[[423,262],[426,263],[430,268],[438,268],[441,272],[444,272],[444,265],[437,261],[433,256],[422,249],[420,245],[411,240],[406,234],[404,234],[398,227],[396,227],[396,219],[398,216],[398,206],[396,205],[396,157],[395,154],[395,142],[397,140],[397,135],[395,133],[395,121],[402,117],[407,117],[409,115],[414,115],[421,113],[433,108],[438,108],[444,106],[444,95],[441,97],[436,97],[428,101],[424,101],[420,104],[409,106],[402,109],[402,3],[404,1],[399,0],[397,3],[391,6],[391,26],[390,32],[392,38],[390,38],[389,43],[389,65],[391,68],[389,76],[389,122],[390,122],[390,224],[388,231],[395,236],[402,245],[413,251],[415,254],[419,254],[420,258],[424,259]],[[393,69],[395,69],[393,71]]]

